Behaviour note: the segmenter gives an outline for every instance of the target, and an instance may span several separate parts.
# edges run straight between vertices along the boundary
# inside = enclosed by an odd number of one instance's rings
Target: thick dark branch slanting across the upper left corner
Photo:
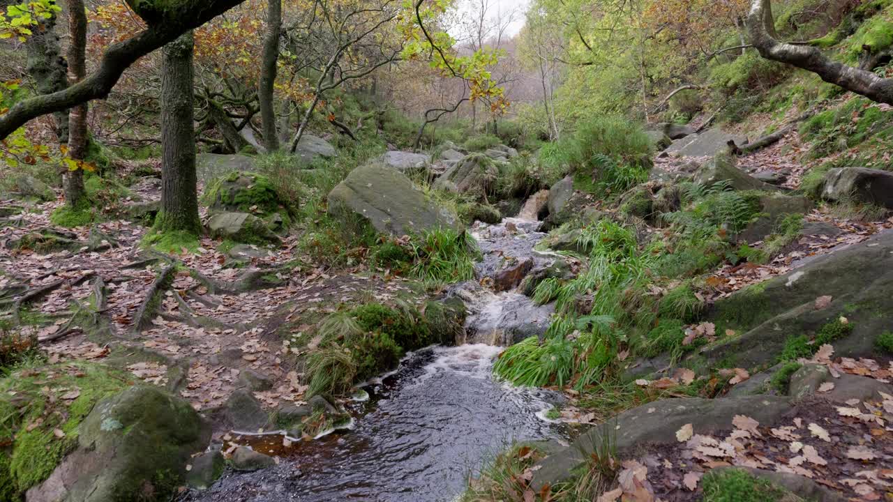
[[[14,105],[8,113],[0,117],[0,139],[5,139],[26,122],[41,115],[62,112],[72,106],[108,96],[118,79],[121,79],[121,73],[140,57],[161,48],[182,33],[203,25],[244,0],[179,0],[174,4],[176,8],[171,8],[171,13],[177,15],[164,16],[160,20],[155,18],[154,11],[146,11],[146,5],[171,4],[171,2],[160,2],[160,0],[155,2],[131,0],[131,2],[142,5],[137,12],[140,15],[146,14],[143,18],[147,21],[148,28],[132,38],[109,46],[96,71],[77,85],[53,94],[34,96]]]

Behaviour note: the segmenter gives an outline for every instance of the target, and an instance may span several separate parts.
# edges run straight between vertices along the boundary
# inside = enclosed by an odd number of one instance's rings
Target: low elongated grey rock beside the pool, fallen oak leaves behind
[[[638,406],[593,427],[561,452],[539,462],[532,487],[568,481],[572,470],[586,463],[603,438],[610,438],[619,456],[634,455],[647,444],[675,444],[676,431],[691,423],[696,434],[710,435],[731,428],[736,414],[763,424],[774,423],[790,409],[788,397],[742,396],[718,399],[684,397]]]

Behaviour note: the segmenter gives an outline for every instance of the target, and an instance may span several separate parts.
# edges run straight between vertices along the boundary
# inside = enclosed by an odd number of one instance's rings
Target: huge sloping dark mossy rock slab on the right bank
[[[718,301],[708,315],[717,332],[739,334],[705,347],[702,355],[742,368],[771,363],[789,337],[812,337],[844,316],[851,330],[834,340],[835,354],[873,356],[875,337],[891,328],[890,291],[893,232],[886,231]],[[830,297],[830,304],[817,303],[819,297]]]

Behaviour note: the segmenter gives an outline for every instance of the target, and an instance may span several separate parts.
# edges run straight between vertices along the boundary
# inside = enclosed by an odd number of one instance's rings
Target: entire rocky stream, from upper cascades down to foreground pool
[[[511,273],[522,278],[531,267],[550,263],[533,251],[543,236],[536,226],[510,218],[472,229],[484,255],[479,280],[449,293],[469,307],[466,344],[412,353],[396,372],[363,387],[369,399],[346,405],[354,417],[350,430],[288,448],[282,448],[286,438],[278,434],[239,438],[279,456],[280,464],[227,473],[188,500],[448,502],[463,492],[470,475],[514,441],[568,439],[563,424],[545,418],[562,402],[559,393],[514,388],[492,375],[499,346],[543,332],[552,312],[514,291],[516,281],[505,290],[480,286],[507,268],[520,266]]]

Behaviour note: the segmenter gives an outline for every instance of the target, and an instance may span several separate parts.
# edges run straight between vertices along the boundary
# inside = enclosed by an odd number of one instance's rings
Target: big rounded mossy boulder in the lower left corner
[[[29,502],[105,502],[170,495],[211,431],[188,402],[139,385],[99,402],[80,424],[77,448]]]

